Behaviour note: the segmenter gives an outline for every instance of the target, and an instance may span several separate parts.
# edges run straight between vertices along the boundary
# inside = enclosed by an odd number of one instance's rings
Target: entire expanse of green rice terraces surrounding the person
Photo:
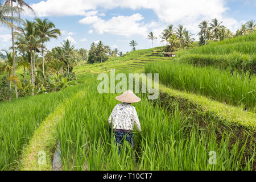
[[[217,52],[220,46],[233,51]],[[175,58],[158,56],[163,48],[80,65],[74,69],[75,86],[1,102],[5,112],[0,116],[0,169],[52,170],[60,142],[62,170],[255,170],[253,67],[242,70],[228,63],[218,67],[214,61],[189,61],[189,55],[214,60],[214,55],[234,52],[246,63],[253,61],[255,35],[181,50]],[[121,155],[108,128],[118,94],[97,92],[97,74],[110,69],[126,75],[159,73],[160,96],[148,100],[148,94],[138,94],[142,101],[133,106],[142,134],[135,131],[135,147],[125,142]],[[46,164],[38,163],[39,151],[46,152]]]

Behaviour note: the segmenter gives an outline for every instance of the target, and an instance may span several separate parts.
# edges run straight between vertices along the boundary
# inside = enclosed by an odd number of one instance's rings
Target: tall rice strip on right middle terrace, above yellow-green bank
[[[255,111],[256,76],[249,73],[231,73],[213,67],[194,67],[191,64],[170,61],[150,63],[146,73],[159,73],[159,80],[172,88],[209,96],[213,100],[230,105],[243,105]]]

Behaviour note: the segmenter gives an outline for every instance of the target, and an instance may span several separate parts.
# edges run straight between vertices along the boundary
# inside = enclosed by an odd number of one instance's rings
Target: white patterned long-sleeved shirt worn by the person
[[[109,116],[109,127],[112,127],[114,131],[133,132],[134,124],[138,131],[141,131],[141,125],[134,106],[122,103],[114,107],[112,113]]]

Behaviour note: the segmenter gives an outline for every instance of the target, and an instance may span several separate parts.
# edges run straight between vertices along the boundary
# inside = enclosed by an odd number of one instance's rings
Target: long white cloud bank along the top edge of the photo
[[[38,16],[65,16],[97,14],[97,8],[114,9],[117,7],[138,10],[141,8],[152,9],[164,22],[175,22],[187,18],[199,18],[200,16],[216,16],[226,10],[224,0],[47,0],[32,4]],[[92,11],[91,11],[92,10]]]

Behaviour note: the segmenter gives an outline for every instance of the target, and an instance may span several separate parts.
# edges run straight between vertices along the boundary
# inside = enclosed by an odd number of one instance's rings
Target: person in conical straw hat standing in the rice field
[[[115,97],[115,99],[121,101],[122,104],[116,105],[110,114],[109,127],[112,128],[113,126],[115,144],[118,145],[118,154],[120,154],[124,138],[133,146],[134,124],[138,131],[141,132],[136,109],[131,106],[131,103],[139,102],[141,98],[137,97],[131,90],[127,90],[121,96]]]

